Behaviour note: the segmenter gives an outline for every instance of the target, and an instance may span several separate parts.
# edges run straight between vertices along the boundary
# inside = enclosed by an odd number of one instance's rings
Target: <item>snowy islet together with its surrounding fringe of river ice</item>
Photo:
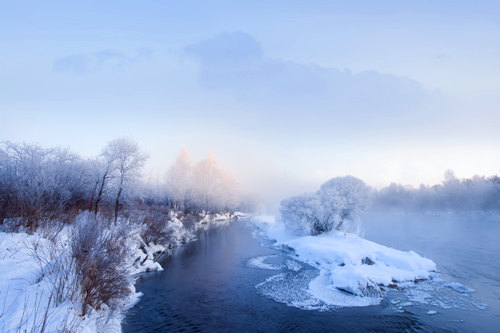
[[[390,291],[398,295],[391,301],[396,312],[416,304],[486,308],[469,296],[472,289],[441,280],[435,263],[413,251],[399,251],[337,231],[296,236],[268,216],[251,223],[260,237],[290,258],[286,261],[288,273],[257,286],[260,294],[278,302],[317,310],[368,306],[380,303]]]

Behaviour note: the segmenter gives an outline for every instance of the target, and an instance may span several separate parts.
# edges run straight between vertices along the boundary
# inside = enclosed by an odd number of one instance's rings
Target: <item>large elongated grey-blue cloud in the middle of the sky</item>
[[[307,111],[320,120],[408,114],[434,94],[408,77],[270,58],[244,32],[219,34],[185,47],[184,54],[198,62],[199,82],[206,89],[286,107],[289,115]]]

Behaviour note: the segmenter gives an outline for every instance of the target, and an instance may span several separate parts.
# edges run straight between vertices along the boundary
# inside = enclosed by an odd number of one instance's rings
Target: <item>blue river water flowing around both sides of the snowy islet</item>
[[[401,219],[405,223],[398,223]],[[165,271],[141,275],[136,286],[144,296],[127,316],[123,331],[497,331],[500,324],[498,221],[485,221],[481,228],[473,228],[474,224],[466,219],[455,222],[458,227],[452,219],[425,219],[432,227],[426,231],[417,222],[420,217],[371,214],[365,220],[367,238],[403,250],[413,249],[433,259],[447,281],[476,290],[470,296],[469,293],[461,296],[451,288],[444,288],[433,291],[435,296],[442,295],[448,301],[450,297],[473,299],[477,304],[488,304],[486,310],[470,302],[445,309],[408,302],[401,294],[389,294],[381,304],[362,308],[307,311],[287,306],[266,297],[262,283],[277,274],[287,276],[288,287],[283,297],[285,303],[290,303],[287,297],[300,299],[301,284],[310,280],[314,271],[282,252],[261,246],[252,237],[252,227],[238,221],[227,227],[200,231],[198,241],[177,249],[161,263]]]

